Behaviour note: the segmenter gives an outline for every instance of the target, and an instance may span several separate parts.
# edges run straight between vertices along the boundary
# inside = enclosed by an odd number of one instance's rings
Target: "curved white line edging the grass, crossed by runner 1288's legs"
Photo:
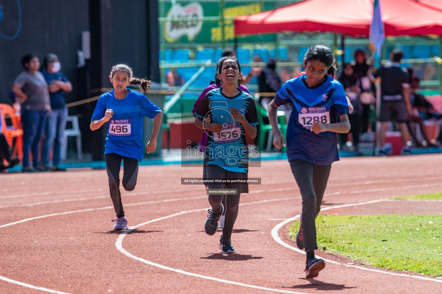
[[[334,208],[348,207],[348,206],[366,205],[366,204],[370,204],[370,203],[383,202],[383,201],[395,201],[395,200],[391,200],[391,199],[379,199],[379,200],[372,200],[372,201],[366,201],[366,202],[359,202],[359,203],[354,203],[354,204],[336,205],[336,206],[330,206],[330,207],[321,208],[321,211],[329,210],[329,209],[334,209]],[[278,235],[278,231],[279,231],[279,229],[282,228],[282,226],[284,226],[286,223],[290,223],[290,222],[292,222],[293,220],[299,219],[299,216],[300,216],[300,215],[298,214],[297,216],[293,216],[293,217],[290,218],[290,219],[287,219],[287,220],[284,220],[284,221],[281,222],[281,223],[278,223],[278,224],[272,229],[272,231],[271,231],[271,235],[272,235],[273,239],[274,239],[276,242],[278,242],[280,245],[282,245],[282,246],[284,246],[284,247],[286,247],[286,248],[292,249],[292,250],[294,250],[294,251],[296,251],[296,252],[298,252],[298,253],[305,254],[305,251],[300,250],[300,249],[298,249],[298,248],[295,248],[295,247],[293,247],[293,246],[290,246],[290,245],[287,244],[286,242],[282,241],[281,238],[279,238],[279,235]],[[407,278],[415,278],[415,279],[422,279],[422,280],[427,280],[427,281],[432,281],[432,282],[442,283],[442,280],[437,280],[437,279],[432,279],[432,278],[427,278],[427,277],[419,277],[419,276],[417,276],[417,275],[398,274],[398,273],[395,273],[395,272],[381,271],[381,270],[373,269],[373,268],[364,268],[364,267],[362,267],[362,266],[358,266],[358,265],[343,264],[343,263],[340,263],[340,262],[337,262],[337,261],[332,261],[332,260],[326,259],[326,258],[324,258],[324,257],[317,256],[317,255],[316,255],[316,257],[317,257],[317,258],[322,258],[324,261],[327,261],[327,262],[329,262],[329,263],[331,263],[331,264],[343,265],[343,266],[347,266],[347,267],[351,267],[351,268],[358,268],[358,269],[362,269],[362,270],[364,270],[364,271],[379,272],[379,273],[381,273],[381,274],[388,274],[388,275],[399,275],[399,276],[403,276],[403,277],[407,277]]]

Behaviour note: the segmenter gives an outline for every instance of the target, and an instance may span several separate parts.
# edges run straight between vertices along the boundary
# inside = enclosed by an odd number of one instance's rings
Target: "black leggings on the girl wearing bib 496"
[[[138,160],[131,157],[121,156],[117,153],[106,154],[106,169],[109,178],[110,198],[114,203],[117,217],[124,216],[123,204],[121,203],[120,193],[120,167],[123,160],[123,188],[126,191],[132,191],[137,184]]]

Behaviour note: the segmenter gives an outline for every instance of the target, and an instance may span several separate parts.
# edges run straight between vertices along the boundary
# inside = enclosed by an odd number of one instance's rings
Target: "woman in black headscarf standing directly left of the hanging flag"
[[[356,64],[353,67],[354,77],[358,80],[358,87],[360,93],[370,93],[373,90],[370,81],[370,65],[367,64],[367,58],[362,50],[354,52],[354,59]],[[374,91],[373,91],[374,92]],[[370,104],[362,104],[361,112],[361,131],[366,133],[368,131],[368,119],[370,117]]]

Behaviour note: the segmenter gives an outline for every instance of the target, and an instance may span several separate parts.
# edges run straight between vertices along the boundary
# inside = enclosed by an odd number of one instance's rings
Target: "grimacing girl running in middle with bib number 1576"
[[[233,224],[238,215],[241,193],[248,193],[249,149],[245,135],[256,137],[258,116],[255,101],[250,94],[238,88],[241,67],[235,57],[223,57],[218,62],[216,78],[221,81],[220,89],[213,89],[198,104],[195,125],[207,135],[205,147],[206,173],[209,182],[209,215],[204,224],[206,234],[212,236],[218,229],[220,216],[225,210],[225,223],[220,238],[222,253],[235,253],[230,241]],[[215,182],[215,179],[229,180]],[[210,194],[211,189],[236,189],[236,195]]]

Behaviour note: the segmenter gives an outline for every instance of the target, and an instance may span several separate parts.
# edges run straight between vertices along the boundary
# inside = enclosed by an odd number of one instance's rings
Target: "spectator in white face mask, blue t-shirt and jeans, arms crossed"
[[[46,138],[43,142],[42,161],[45,170],[62,171],[60,163],[61,145],[63,133],[66,127],[68,109],[65,107],[65,93],[72,91],[72,84],[60,71],[61,64],[58,56],[50,53],[43,60],[42,71],[49,85],[52,112],[46,118]],[[53,167],[49,166],[49,152],[53,147]],[[79,151],[80,152],[80,151]]]

